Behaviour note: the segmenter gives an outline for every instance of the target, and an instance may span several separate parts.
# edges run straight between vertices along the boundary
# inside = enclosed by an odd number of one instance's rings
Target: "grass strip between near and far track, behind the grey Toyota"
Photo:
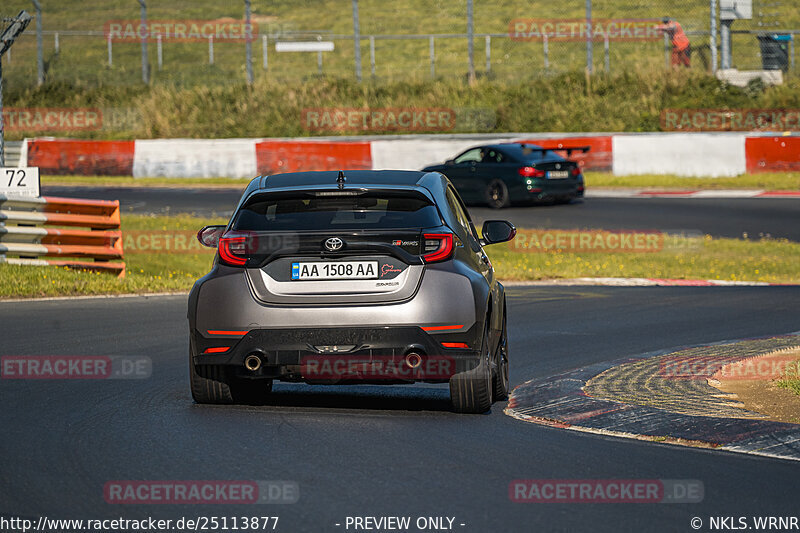
[[[123,235],[132,232],[181,231],[191,235],[206,224],[222,219],[188,215],[155,217],[124,215]],[[127,242],[127,241],[126,241]],[[128,245],[127,275],[56,267],[0,264],[0,297],[136,294],[188,291],[194,281],[209,271],[212,252],[133,253]],[[736,239],[669,239],[656,253],[528,253],[511,245],[488,248],[498,276],[503,280],[538,280],[575,277],[657,277],[800,282],[800,244],[785,240],[743,241]],[[191,250],[193,252],[193,250]]]

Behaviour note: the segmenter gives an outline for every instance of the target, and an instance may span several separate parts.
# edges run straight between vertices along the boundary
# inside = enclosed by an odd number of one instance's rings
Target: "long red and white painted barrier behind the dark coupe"
[[[525,141],[573,154],[585,170],[616,175],[677,174],[722,177],[745,172],[800,170],[800,136],[745,133],[408,135],[395,138],[153,139],[83,141],[37,138],[26,144],[27,164],[43,174],[134,177],[254,177],[299,170],[418,170],[471,146]]]

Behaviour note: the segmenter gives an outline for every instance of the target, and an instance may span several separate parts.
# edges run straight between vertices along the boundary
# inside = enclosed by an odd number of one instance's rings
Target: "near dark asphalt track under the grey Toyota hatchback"
[[[142,380],[0,381],[0,515],[277,514],[277,531],[345,531],[335,524],[348,515],[449,516],[455,530],[476,532],[690,531],[693,517],[797,515],[795,462],[543,427],[504,415],[504,404],[456,415],[438,386],[278,384],[271,405],[195,405],[185,300],[0,303],[3,355],[153,361]],[[800,287],[513,287],[512,384],[652,350],[797,331],[798,301]],[[700,480],[704,501],[525,504],[508,495],[515,479],[656,478]],[[293,480],[300,500],[103,499],[111,480],[192,479]]]

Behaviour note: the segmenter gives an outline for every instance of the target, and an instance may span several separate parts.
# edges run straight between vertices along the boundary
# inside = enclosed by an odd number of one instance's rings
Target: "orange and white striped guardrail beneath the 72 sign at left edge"
[[[0,194],[0,262],[95,270],[122,278],[122,259],[119,201]]]

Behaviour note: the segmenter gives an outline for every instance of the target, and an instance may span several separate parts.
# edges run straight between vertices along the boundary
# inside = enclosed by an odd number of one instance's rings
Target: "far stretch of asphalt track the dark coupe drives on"
[[[228,217],[241,191],[139,187],[43,186],[43,194],[120,200],[123,213],[194,213]],[[697,232],[715,237],[763,236],[800,241],[800,201],[788,198],[588,198],[570,205],[472,207],[476,223],[505,218],[520,228],[629,229]]]

